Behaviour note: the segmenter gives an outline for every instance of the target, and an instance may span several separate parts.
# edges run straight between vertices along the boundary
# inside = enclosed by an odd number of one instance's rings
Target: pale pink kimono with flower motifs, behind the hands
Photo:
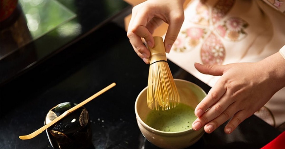
[[[167,58],[211,87],[219,76],[201,74],[194,62],[257,62],[279,50],[285,55],[282,0],[192,0],[184,14],[184,23]],[[255,115],[284,131],[285,87]]]

